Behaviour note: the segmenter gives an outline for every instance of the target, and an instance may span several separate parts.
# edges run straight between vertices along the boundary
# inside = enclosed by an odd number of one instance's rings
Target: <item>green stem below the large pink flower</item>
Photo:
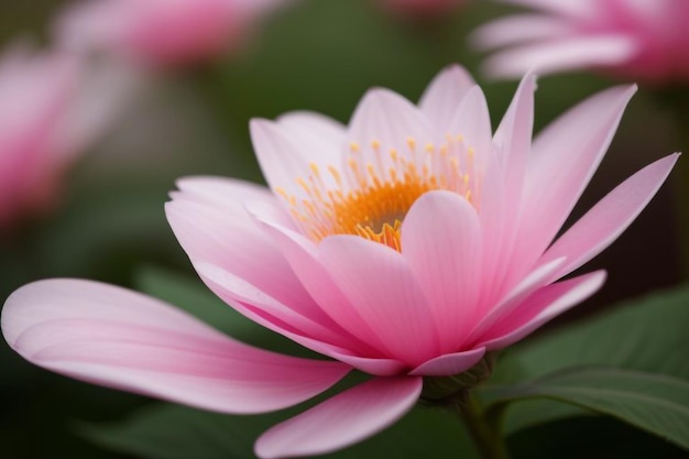
[[[452,408],[460,415],[483,459],[508,459],[502,436],[489,423],[485,411],[471,392],[455,398]]]

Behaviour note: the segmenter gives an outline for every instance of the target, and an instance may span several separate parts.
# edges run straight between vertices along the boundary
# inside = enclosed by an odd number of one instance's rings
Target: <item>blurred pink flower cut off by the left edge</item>
[[[0,57],[0,229],[55,204],[63,173],[121,102],[116,79],[24,44]]]

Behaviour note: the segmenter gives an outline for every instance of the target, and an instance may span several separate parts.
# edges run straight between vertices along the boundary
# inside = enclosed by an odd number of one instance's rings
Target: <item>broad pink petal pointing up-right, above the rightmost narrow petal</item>
[[[635,89],[620,86],[601,91],[536,138],[523,197],[522,242],[512,259],[513,275],[532,270],[555,238],[603,159]]]

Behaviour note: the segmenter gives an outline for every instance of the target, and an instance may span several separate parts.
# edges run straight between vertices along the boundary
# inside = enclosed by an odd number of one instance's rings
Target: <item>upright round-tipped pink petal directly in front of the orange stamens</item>
[[[402,254],[428,297],[441,353],[457,350],[475,321],[481,244],[477,211],[456,193],[426,193],[402,225]]]

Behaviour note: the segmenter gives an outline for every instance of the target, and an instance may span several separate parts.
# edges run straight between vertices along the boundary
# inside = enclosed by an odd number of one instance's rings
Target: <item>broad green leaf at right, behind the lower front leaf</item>
[[[685,286],[625,302],[610,312],[520,343],[504,352],[489,384],[520,383],[578,365],[615,367],[689,380],[687,305],[689,287]],[[525,401],[508,407],[503,429],[512,434],[582,414],[586,412],[559,402]]]

